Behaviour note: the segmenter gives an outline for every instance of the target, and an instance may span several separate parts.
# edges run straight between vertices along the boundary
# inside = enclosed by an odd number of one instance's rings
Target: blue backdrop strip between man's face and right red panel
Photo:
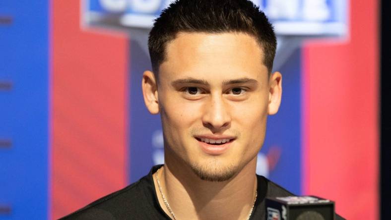
[[[295,50],[281,69],[282,100],[277,114],[267,120],[261,152],[281,150],[269,178],[295,194],[301,194],[301,49]]]

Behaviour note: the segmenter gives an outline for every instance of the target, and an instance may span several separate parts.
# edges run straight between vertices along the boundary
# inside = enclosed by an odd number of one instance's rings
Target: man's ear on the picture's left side
[[[145,71],[142,74],[141,87],[146,108],[149,110],[149,112],[151,112],[151,114],[159,113],[157,84],[153,72]]]

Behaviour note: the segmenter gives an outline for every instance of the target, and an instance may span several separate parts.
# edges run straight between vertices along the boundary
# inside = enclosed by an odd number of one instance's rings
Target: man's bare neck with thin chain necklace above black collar
[[[234,177],[223,182],[201,180],[187,165],[167,161],[159,170],[162,192],[177,220],[246,220],[254,204],[257,190],[254,158]],[[155,188],[160,206],[168,211],[158,189]]]

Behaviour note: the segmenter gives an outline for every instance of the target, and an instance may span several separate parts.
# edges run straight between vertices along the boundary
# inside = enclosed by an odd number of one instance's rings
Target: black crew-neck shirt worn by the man
[[[137,182],[107,195],[62,220],[171,220],[160,207],[152,174],[162,165],[151,168]],[[293,194],[263,176],[257,175],[258,197],[251,220],[265,219],[265,197],[284,197]],[[336,220],[340,220],[336,216]]]

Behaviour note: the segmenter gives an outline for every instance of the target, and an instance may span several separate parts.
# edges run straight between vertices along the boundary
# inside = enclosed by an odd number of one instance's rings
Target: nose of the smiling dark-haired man
[[[210,102],[205,105],[202,123],[213,133],[229,128],[231,115],[221,95],[212,96]]]

